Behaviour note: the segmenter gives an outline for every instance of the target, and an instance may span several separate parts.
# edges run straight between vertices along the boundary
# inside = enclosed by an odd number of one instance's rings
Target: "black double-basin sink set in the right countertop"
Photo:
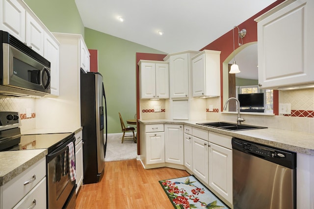
[[[202,126],[208,126],[208,127],[228,130],[228,131],[267,129],[267,127],[262,127],[262,126],[238,125],[236,123],[228,123],[228,122],[211,122],[211,123],[197,123],[197,124],[202,125]]]

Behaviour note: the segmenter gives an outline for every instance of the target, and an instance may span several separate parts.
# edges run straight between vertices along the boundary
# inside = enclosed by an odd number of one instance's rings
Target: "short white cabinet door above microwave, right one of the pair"
[[[26,12],[26,45],[40,55],[44,55],[44,28]],[[50,60],[49,60],[50,61]]]

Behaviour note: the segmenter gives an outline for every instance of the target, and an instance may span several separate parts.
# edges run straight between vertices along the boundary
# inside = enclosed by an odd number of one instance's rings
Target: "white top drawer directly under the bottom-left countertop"
[[[24,185],[27,181],[32,180],[34,175],[36,176],[34,181]],[[13,208],[45,176],[46,158],[43,157],[17,177],[3,185],[3,208]]]

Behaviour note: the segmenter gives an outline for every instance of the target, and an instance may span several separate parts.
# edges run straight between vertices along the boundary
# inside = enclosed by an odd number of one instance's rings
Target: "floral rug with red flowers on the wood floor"
[[[159,181],[175,209],[229,209],[194,176]]]

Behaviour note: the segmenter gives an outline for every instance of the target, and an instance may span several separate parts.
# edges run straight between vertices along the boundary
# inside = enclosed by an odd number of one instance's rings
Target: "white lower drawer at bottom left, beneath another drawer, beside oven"
[[[44,209],[46,202],[46,177],[43,178],[15,207],[14,209],[34,208]]]

